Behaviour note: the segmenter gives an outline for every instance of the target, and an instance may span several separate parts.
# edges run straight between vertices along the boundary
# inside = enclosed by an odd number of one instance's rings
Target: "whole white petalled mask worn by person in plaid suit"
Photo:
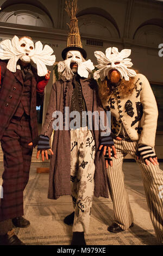
[[[43,45],[40,41],[35,43],[29,38],[21,40],[15,35],[12,40],[4,40],[0,44],[0,59],[9,59],[7,68],[11,72],[16,72],[17,61],[21,59],[24,63],[30,63],[31,60],[37,66],[37,74],[45,76],[47,74],[46,65],[52,66],[55,62],[55,55],[52,55],[53,49]]]

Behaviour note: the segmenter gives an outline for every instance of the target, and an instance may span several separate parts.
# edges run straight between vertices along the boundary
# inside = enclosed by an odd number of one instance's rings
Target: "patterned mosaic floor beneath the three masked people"
[[[30,180],[24,191],[25,217],[31,225],[16,229],[15,233],[27,245],[70,245],[72,227],[64,224],[64,217],[73,211],[70,196],[58,200],[47,199],[48,174],[37,174],[37,167],[48,167],[48,163],[32,163]],[[163,163],[160,164],[163,169]],[[113,234],[107,231],[113,221],[112,202],[105,198],[94,198],[89,233],[85,235],[87,245],[157,245],[154,229],[149,217],[141,174],[136,163],[124,163],[126,186],[134,214],[134,227]],[[3,163],[0,163],[0,176]],[[0,179],[0,184],[2,180]]]

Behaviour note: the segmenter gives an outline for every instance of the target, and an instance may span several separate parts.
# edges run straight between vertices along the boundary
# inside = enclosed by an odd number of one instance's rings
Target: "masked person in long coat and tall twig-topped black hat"
[[[46,120],[38,143],[37,157],[41,151],[42,159],[45,155],[48,159],[47,149],[50,148],[52,155],[48,198],[72,196],[74,212],[65,217],[64,222],[73,224],[71,245],[85,245],[84,233],[89,229],[94,187],[95,196],[108,197],[104,153],[100,156],[101,152],[98,148],[100,145],[101,148],[105,145],[105,151],[106,146],[112,150],[115,148],[111,136],[101,138],[101,132],[95,130],[94,118],[92,130],[88,128],[86,119],[85,125],[82,123],[84,112],[101,111],[105,115],[105,111],[97,96],[98,85],[93,78],[89,78],[90,72],[95,67],[90,59],[85,60],[86,52],[82,47],[76,18],[77,0],[66,1],[66,11],[71,17],[67,47],[62,51],[64,61],[58,63],[60,80],[52,87]],[[67,122],[71,123],[72,119],[70,115],[67,118],[65,107],[70,109],[70,113],[79,113],[81,119],[79,127],[67,127]],[[63,114],[64,124],[62,129],[54,128],[51,149],[48,143],[57,111]]]

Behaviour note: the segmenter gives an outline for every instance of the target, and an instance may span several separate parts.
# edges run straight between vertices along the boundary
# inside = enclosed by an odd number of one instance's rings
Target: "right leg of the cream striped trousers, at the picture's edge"
[[[137,148],[137,142],[125,142],[125,150],[134,158],[136,157]],[[160,193],[163,185],[163,172],[159,166],[154,166],[152,163],[147,166],[141,158],[137,163],[141,169],[149,214],[155,234],[158,241],[163,242],[163,196]]]

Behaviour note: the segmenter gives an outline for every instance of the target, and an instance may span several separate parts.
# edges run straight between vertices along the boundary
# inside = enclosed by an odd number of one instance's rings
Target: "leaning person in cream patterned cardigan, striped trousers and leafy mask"
[[[111,111],[111,131],[121,137],[114,141],[117,159],[108,167],[108,186],[114,205],[114,223],[108,231],[121,232],[133,227],[133,213],[124,186],[123,159],[130,154],[139,164],[145,188],[149,214],[159,242],[163,241],[163,199],[160,186],[163,172],[155,155],[155,133],[158,108],[151,86],[142,74],[130,69],[131,50],[118,52],[109,47],[105,54],[96,51],[98,70],[94,74],[99,83],[103,107]]]

